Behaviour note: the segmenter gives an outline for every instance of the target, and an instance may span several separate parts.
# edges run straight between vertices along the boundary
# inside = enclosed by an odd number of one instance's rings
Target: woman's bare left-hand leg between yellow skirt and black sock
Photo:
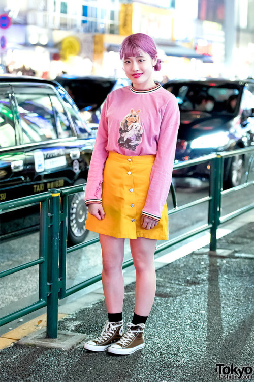
[[[108,313],[122,312],[124,239],[99,234],[102,247],[102,285]]]

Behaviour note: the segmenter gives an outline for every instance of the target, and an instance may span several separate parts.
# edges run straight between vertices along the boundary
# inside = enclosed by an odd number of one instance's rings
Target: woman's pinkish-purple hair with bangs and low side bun
[[[121,43],[119,50],[120,59],[138,56],[142,51],[148,53],[149,56],[154,59],[157,54],[155,42],[150,36],[144,33],[134,33],[133,35],[125,37]],[[162,60],[158,59],[154,66],[155,71],[161,69],[161,62]]]

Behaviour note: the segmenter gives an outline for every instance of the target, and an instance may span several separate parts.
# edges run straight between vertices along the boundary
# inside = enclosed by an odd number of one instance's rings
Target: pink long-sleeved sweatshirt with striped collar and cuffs
[[[146,91],[129,85],[111,92],[102,108],[85,203],[102,203],[109,151],[130,156],[155,154],[142,215],[160,220],[171,185],[179,120],[175,96],[160,84]]]

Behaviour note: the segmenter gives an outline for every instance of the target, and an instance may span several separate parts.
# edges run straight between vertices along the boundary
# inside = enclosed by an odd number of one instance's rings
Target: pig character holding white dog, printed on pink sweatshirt
[[[131,109],[120,123],[118,143],[125,149],[136,151],[136,147],[142,142],[143,128],[140,125],[140,112],[140,109],[137,112]]]

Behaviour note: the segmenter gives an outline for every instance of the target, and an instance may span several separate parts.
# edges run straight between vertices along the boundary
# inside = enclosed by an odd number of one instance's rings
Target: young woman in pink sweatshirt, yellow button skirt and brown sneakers
[[[102,282],[108,311],[101,335],[85,343],[92,351],[131,354],[144,347],[144,328],[156,288],[156,240],[168,239],[169,192],[179,108],[176,98],[153,80],[161,69],[153,39],[137,33],[120,47],[132,81],[111,92],[103,106],[93,149],[85,203],[86,228],[98,232]],[[136,269],[135,311],[123,333],[124,239],[130,239]]]

